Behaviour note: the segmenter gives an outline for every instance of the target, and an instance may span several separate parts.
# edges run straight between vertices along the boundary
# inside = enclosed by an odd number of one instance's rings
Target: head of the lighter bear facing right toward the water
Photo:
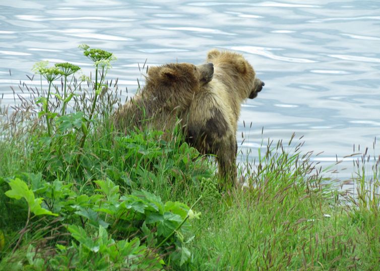
[[[208,52],[206,61],[225,71],[224,76],[228,79],[223,81],[229,81],[231,87],[237,89],[241,100],[255,98],[265,85],[256,77],[254,68],[239,53],[212,49]]]

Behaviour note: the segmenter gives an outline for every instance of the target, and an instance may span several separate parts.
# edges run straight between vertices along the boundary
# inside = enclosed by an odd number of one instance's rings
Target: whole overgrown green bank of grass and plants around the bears
[[[263,144],[240,165],[248,188],[220,192],[179,132],[113,131],[112,54],[83,50],[95,78],[40,64],[46,87],[21,86],[35,99],[2,119],[0,269],[378,270],[373,153],[355,162],[355,197],[295,138]]]

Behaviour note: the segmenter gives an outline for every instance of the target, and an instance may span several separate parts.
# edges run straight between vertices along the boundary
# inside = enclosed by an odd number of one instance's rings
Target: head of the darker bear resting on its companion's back
[[[152,94],[169,109],[183,109],[189,106],[201,87],[212,80],[213,74],[212,63],[170,63],[149,67],[145,92]]]

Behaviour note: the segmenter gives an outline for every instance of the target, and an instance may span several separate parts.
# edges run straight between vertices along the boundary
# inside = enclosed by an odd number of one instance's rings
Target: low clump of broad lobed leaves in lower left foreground
[[[72,185],[64,185],[58,180],[47,183],[41,176],[20,176],[30,182],[30,188],[20,178],[8,182],[11,190],[6,195],[15,199],[24,198],[28,203],[26,225],[21,230],[13,251],[22,244],[24,233],[32,230],[30,234],[40,234],[41,226],[31,218],[30,212],[35,215],[59,216],[59,220],[46,219],[55,229],[60,229],[61,226],[67,228],[71,237],[68,239],[59,230],[61,233],[54,235],[51,245],[64,241],[71,243],[71,246],[57,245],[50,248],[55,250],[56,255],[45,259],[30,244],[25,255],[28,259],[26,267],[58,268],[67,264],[79,268],[80,264],[84,270],[100,270],[107,269],[112,264],[130,268],[139,266],[142,269],[149,266],[158,270],[164,264],[159,255],[166,255],[164,258],[168,262],[178,266],[191,259],[192,254],[186,244],[191,242],[194,234],[188,220],[199,217],[199,213],[194,213],[186,204],[172,201],[163,203],[160,197],[144,190],[121,195],[119,186],[110,180],[95,181],[97,188],[93,194],[77,194],[70,189]],[[44,198],[36,198],[36,195]],[[56,213],[41,207],[42,202]],[[65,226],[67,224],[69,225]],[[97,230],[97,234],[94,230]],[[40,243],[37,244],[41,246]],[[35,255],[28,256],[31,253]],[[43,260],[38,260],[39,258]]]

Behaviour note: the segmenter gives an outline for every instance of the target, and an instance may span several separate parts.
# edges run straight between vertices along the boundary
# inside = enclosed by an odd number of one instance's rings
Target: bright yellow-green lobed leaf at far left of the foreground
[[[11,190],[5,192],[5,194],[10,198],[21,199],[25,198],[26,202],[29,205],[29,209],[35,215],[49,214],[58,216],[56,213],[52,213],[49,210],[46,210],[41,207],[43,198],[34,198],[34,193],[28,188],[24,181],[21,181],[19,178],[11,179],[9,182]]]

